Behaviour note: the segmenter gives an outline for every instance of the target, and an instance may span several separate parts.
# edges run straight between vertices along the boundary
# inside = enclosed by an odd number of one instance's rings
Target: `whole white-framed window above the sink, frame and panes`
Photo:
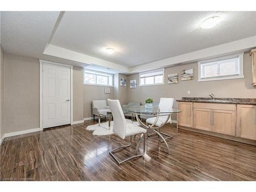
[[[198,62],[198,81],[244,78],[244,53]]]

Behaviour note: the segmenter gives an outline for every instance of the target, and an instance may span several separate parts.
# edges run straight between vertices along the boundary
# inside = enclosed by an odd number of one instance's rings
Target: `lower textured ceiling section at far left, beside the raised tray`
[[[4,51],[38,58],[45,50],[58,15],[58,11],[2,11]]]

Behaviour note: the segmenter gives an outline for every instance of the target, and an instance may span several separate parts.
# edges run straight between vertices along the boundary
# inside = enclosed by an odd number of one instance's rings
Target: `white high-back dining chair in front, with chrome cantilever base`
[[[110,155],[118,162],[118,164],[124,163],[124,162],[131,160],[133,158],[136,158],[136,157],[143,156],[145,154],[146,130],[143,129],[142,127],[136,125],[136,123],[126,123],[119,100],[108,99],[108,103],[109,103],[109,106],[110,106],[110,109],[112,112],[112,116],[114,118],[113,132],[122,139],[125,139],[125,137],[130,137],[129,144],[114,148],[113,150],[110,151]],[[121,161],[118,160],[117,157],[114,155],[114,153],[116,151],[120,150],[121,148],[130,147],[132,144],[132,136],[137,135],[137,134],[141,134],[141,135],[140,135],[139,141],[136,146],[136,154],[127,159],[124,159]],[[143,137],[143,141],[144,141],[143,142],[143,152],[142,152],[142,154],[138,155],[138,149],[139,149],[139,145],[142,140],[142,137]]]

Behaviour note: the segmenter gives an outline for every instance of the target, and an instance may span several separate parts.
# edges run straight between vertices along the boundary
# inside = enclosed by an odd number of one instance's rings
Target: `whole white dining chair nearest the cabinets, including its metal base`
[[[159,108],[160,109],[161,108],[162,109],[165,109],[165,108],[172,109],[173,108],[173,103],[174,103],[174,98],[160,98]],[[153,123],[155,123],[156,118],[157,117],[148,118],[148,119],[146,119],[146,123],[153,124]],[[165,124],[165,121],[166,121],[167,118],[168,118],[168,116],[159,116],[157,122],[155,123],[155,125],[158,126],[159,133],[162,134],[162,135],[167,136],[167,138],[165,138],[165,140],[173,137],[173,136],[168,135],[166,133],[161,133],[161,126],[163,126]],[[172,123],[172,119],[170,118],[170,116],[169,116],[169,119],[167,120],[166,123]],[[152,133],[152,134],[147,135],[147,136],[150,137],[150,136],[153,136],[153,135],[155,135],[155,133]],[[163,142],[163,141],[161,141],[161,142]]]

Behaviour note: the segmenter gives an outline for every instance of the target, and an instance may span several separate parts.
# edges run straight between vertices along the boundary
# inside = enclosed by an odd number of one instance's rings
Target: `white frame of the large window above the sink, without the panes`
[[[238,75],[233,74],[233,75],[216,76],[216,77],[201,77],[201,68],[206,63],[209,63],[209,65],[210,65],[210,63],[212,63],[212,62],[223,61],[223,60],[232,59],[232,58],[236,58],[236,57],[238,57],[238,67],[239,67]],[[226,80],[226,79],[239,79],[239,78],[244,78],[244,52],[198,61],[198,81],[199,82],[200,81]]]

